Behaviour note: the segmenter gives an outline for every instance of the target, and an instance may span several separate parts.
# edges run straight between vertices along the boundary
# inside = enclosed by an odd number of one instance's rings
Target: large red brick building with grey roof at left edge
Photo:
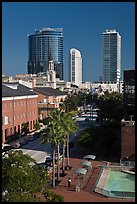
[[[38,95],[19,83],[2,83],[2,143],[22,134],[22,124],[34,130],[38,120]]]

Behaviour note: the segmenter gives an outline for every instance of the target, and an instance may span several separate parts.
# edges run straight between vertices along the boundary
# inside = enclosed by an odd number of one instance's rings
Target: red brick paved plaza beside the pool
[[[64,202],[135,202],[135,199],[107,198],[93,191],[100,172],[98,165],[104,165],[104,162],[101,161],[92,161],[92,169],[87,172],[80,191],[76,191],[78,178],[74,174],[74,170],[81,168],[79,165],[80,161],[81,159],[70,158],[70,166],[72,168],[65,170],[66,175],[61,177],[60,183],[54,189],[51,189],[53,192],[64,196]],[[67,186],[69,177],[72,180],[70,188]]]

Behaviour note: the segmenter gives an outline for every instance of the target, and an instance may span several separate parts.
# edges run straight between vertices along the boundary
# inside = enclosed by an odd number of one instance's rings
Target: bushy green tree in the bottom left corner
[[[48,187],[49,177],[34,159],[21,150],[11,151],[2,161],[3,201],[32,200],[35,192]]]

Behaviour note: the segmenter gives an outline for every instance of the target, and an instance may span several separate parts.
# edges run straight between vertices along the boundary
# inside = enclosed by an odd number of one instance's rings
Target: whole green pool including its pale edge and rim
[[[122,167],[102,168],[94,191],[107,197],[134,199],[135,174],[123,172]]]

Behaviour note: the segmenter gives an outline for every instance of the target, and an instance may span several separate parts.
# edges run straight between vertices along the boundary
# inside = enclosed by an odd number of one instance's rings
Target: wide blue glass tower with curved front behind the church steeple
[[[63,28],[43,28],[28,35],[28,74],[48,70],[50,50],[56,77],[63,80]]]

